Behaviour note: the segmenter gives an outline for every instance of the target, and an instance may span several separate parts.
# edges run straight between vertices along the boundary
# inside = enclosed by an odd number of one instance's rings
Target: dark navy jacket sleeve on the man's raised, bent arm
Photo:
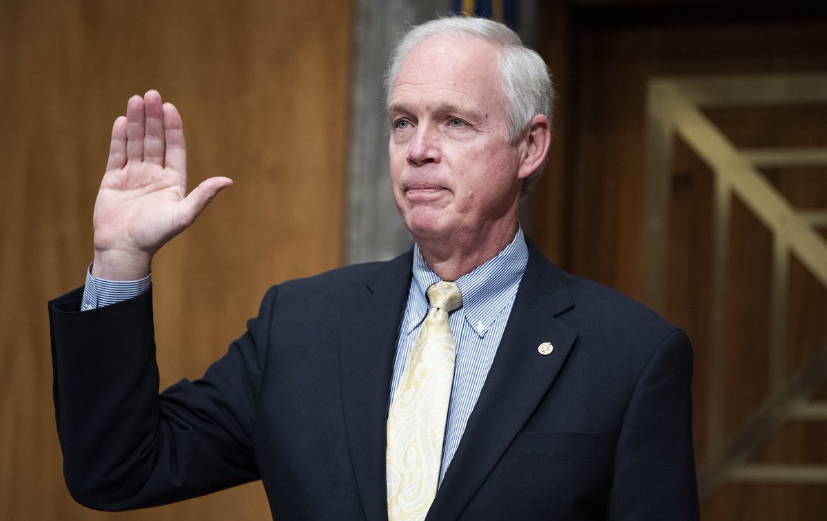
[[[256,480],[252,428],[276,289],[202,379],[162,394],[151,290],[80,313],[82,292],[49,303],[55,418],[74,499],[134,509]]]

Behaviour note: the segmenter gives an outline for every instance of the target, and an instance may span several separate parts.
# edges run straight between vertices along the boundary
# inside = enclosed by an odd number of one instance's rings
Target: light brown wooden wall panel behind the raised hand
[[[157,88],[190,187],[236,184],[155,259],[162,385],[197,377],[267,286],[341,263],[352,2],[0,0],[0,519],[269,519],[260,484],[130,514],[62,479],[47,299],[83,283],[112,121]]]

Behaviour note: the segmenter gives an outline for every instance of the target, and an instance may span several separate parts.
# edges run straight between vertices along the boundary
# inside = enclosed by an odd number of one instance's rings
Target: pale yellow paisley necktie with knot
[[[425,519],[437,495],[448,399],[454,377],[454,336],[448,313],[462,305],[457,284],[428,288],[431,308],[419,328],[388,413],[388,519]]]

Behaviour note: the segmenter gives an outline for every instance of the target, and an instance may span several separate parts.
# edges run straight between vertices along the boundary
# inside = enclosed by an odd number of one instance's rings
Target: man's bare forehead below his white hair
[[[390,91],[390,103],[423,96],[499,102],[499,58],[498,46],[477,38],[430,38],[403,60]]]

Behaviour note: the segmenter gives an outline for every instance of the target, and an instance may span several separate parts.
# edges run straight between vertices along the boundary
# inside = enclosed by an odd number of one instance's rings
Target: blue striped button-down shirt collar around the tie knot
[[[505,246],[503,251],[457,279],[457,287],[462,294],[461,311],[480,337],[485,335],[504,306],[514,299],[526,264],[528,246],[525,243],[523,229],[518,227],[514,240]],[[414,279],[411,281],[408,294],[406,332],[413,331],[414,327],[423,321],[428,313],[428,297],[425,291],[431,284],[441,280],[425,262],[416,244],[413,270]]]

